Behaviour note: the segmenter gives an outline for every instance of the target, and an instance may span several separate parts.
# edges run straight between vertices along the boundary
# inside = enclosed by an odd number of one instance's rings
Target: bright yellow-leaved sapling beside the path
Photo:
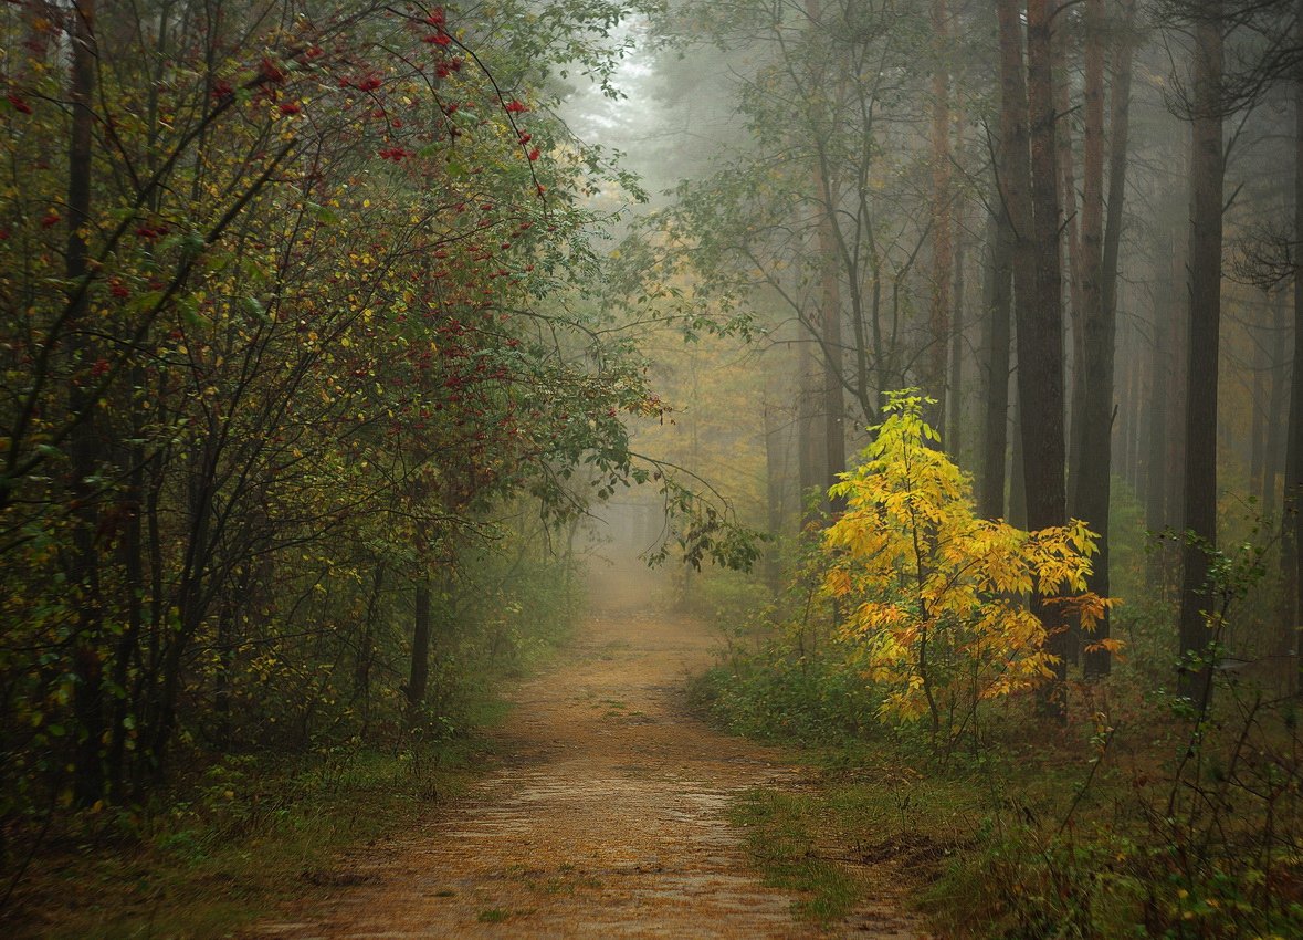
[[[1031,598],[1071,605],[1087,627],[1111,600],[1085,592],[1096,542],[1080,520],[1025,532],[977,515],[971,478],[929,446],[928,403],[889,394],[860,465],[833,488],[847,511],[823,537],[825,587],[839,639],[881,687],[881,717],[928,716],[933,743],[949,744],[976,730],[979,703],[1054,675]]]

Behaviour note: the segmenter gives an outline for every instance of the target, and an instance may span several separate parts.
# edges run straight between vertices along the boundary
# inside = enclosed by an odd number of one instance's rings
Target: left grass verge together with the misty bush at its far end
[[[448,626],[435,631],[420,712],[379,698],[298,747],[272,734],[223,752],[195,735],[147,800],[10,816],[0,933],[231,936],[294,898],[364,881],[344,850],[457,794],[490,756],[482,729],[507,713],[502,683],[543,666],[569,635],[580,606],[569,575],[517,562],[507,580],[500,568],[482,563],[473,591],[435,598]]]

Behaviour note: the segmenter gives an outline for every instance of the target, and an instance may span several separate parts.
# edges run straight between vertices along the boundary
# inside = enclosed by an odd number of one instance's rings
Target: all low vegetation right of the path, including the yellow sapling
[[[1136,602],[1092,643],[1117,605],[1083,593],[1093,535],[979,518],[921,407],[889,395],[834,488],[846,511],[801,546],[779,602],[732,621],[693,690],[724,727],[820,768],[813,793],[741,802],[761,868],[891,872],[942,936],[1303,936],[1298,662],[1272,527],[1227,524],[1242,537],[1222,551],[1165,533],[1147,553],[1121,492],[1114,572]],[[1178,661],[1170,562],[1192,550],[1207,640]],[[1080,617],[1106,678],[1048,654],[1058,618],[1029,600],[1048,584],[1038,602]]]

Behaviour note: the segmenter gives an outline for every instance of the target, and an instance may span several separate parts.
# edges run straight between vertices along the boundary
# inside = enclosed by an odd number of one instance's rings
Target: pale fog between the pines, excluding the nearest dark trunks
[[[1061,429],[1029,430],[1037,442],[1062,435],[1066,484],[1050,514],[1102,532],[1098,507],[1111,506],[1131,545],[1184,527],[1183,468],[1192,452],[1204,463],[1210,454],[1188,451],[1183,433],[1187,386],[1210,381],[1191,375],[1187,352],[1199,13],[1140,4],[1110,8],[1098,25],[1088,16],[1080,5],[1055,13],[1048,47],[1061,313],[1058,339],[1038,355],[1058,357],[1062,390],[1022,394],[1061,402]],[[1199,499],[1221,507],[1221,537],[1233,541],[1282,519],[1291,17],[1268,5],[1221,30],[1216,484]],[[800,494],[855,463],[881,396],[904,387],[938,400],[929,420],[975,477],[982,511],[1027,521],[1024,314],[1011,271],[1024,263],[1018,242],[1037,236],[1002,233],[1015,169],[1001,168],[997,33],[986,4],[672,4],[622,23],[632,47],[611,76],[619,98],[572,78],[560,115],[580,140],[620,151],[650,193],[618,223],[616,302],[666,280],[683,288],[654,327],[642,316],[654,301],[638,308],[654,383],[676,415],[635,435],[711,480],[779,545],[800,529]],[[1036,186],[1040,171],[1029,172]],[[999,250],[1006,237],[1015,244]],[[681,317],[694,318],[687,343]],[[1105,356],[1106,368],[1092,365]],[[1087,430],[1101,420],[1104,484],[1100,433]],[[1081,478],[1105,486],[1104,503],[1079,493]],[[1157,584],[1175,600],[1170,550],[1109,555],[1114,591]],[[1246,626],[1242,641],[1261,635]]]

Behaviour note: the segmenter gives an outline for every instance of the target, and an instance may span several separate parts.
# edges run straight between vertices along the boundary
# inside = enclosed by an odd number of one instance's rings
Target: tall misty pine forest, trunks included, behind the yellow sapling
[[[1231,647],[1293,688],[1295,5],[688,4],[654,22],[670,129],[646,142],[711,156],[618,265],[761,336],[767,524],[797,528],[797,494],[837,481],[883,394],[919,387],[984,515],[1083,519],[1093,591],[1178,602],[1174,660],[1207,645],[1218,544],[1255,540],[1270,575]],[[1121,588],[1110,506],[1127,544],[1136,514],[1170,536],[1121,562]],[[1058,682],[1109,671],[1072,630],[1049,643]],[[1181,675],[1197,698],[1208,673]]]

